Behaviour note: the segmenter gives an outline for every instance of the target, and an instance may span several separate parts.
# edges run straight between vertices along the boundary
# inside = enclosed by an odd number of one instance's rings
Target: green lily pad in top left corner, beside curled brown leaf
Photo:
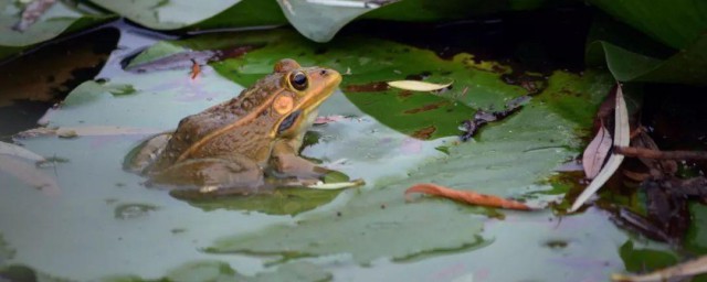
[[[15,2],[0,0],[0,58],[60,34],[84,30],[113,18],[108,14],[77,10],[65,1],[57,1],[34,24],[19,32],[12,29],[22,14]]]

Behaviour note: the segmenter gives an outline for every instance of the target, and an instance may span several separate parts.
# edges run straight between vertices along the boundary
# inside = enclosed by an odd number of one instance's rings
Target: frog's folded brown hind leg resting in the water
[[[151,183],[177,185],[175,193],[203,196],[267,192],[262,169],[247,158],[187,160],[151,175]]]

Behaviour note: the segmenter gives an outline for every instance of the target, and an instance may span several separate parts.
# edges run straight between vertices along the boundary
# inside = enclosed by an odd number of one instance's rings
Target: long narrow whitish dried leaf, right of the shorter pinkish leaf
[[[616,108],[614,113],[614,145],[625,147],[631,141],[630,124],[629,124],[629,110],[626,109],[626,101],[623,99],[623,90],[621,85],[615,88],[616,91]],[[579,209],[584,202],[601,188],[606,183],[609,177],[614,174],[623,162],[624,156],[622,154],[611,154],[606,165],[599,172],[599,175],[582,191],[582,193],[574,199],[574,204],[569,209],[570,213]]]

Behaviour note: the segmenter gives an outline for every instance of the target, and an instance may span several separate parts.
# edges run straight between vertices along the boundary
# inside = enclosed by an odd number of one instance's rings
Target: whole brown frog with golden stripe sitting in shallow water
[[[330,171],[298,151],[317,108],[340,82],[334,69],[282,59],[236,98],[186,117],[175,132],[144,142],[128,166],[149,183],[218,195],[314,183]]]

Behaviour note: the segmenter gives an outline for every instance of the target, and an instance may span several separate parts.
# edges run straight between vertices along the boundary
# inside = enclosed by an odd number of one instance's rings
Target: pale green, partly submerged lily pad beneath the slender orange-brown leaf
[[[578,94],[598,102],[609,86],[605,83],[599,89],[584,89]],[[557,95],[561,94],[546,91],[539,97],[551,99]],[[484,239],[479,237],[483,227],[479,216],[471,215],[471,210],[451,202],[422,199],[405,204],[403,191],[422,182],[506,197],[524,197],[528,193],[551,189],[549,185],[536,182],[571,159],[577,153],[579,140],[577,123],[555,113],[550,107],[551,104],[531,102],[517,116],[486,129],[476,142],[451,147],[449,156],[422,164],[407,178],[377,185],[372,191],[357,195],[337,209],[336,215],[319,214],[296,226],[224,238],[208,250],[284,257],[344,252],[351,253],[359,263],[369,263],[380,257],[405,259],[426,252],[484,246]]]

